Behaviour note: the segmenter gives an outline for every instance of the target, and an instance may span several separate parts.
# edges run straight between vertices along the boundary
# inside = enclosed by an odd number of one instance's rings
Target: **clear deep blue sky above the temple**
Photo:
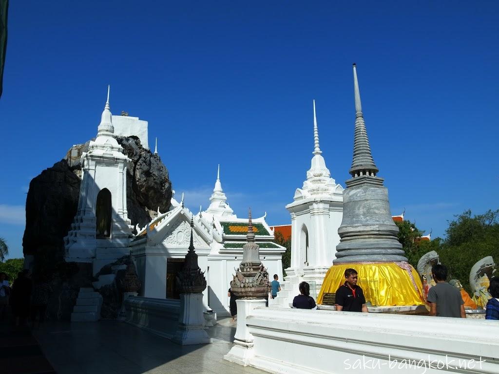
[[[434,236],[499,201],[498,1],[11,1],[0,236],[20,257],[30,180],[111,111],[149,121],[177,197],[222,186],[240,216],[285,204],[313,151],[349,178],[352,62],[392,214]]]

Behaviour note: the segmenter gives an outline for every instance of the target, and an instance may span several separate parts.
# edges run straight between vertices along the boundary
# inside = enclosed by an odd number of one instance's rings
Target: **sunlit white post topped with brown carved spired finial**
[[[246,324],[247,316],[253,309],[265,307],[265,296],[270,291],[268,273],[260,262],[260,247],[254,242],[251,209],[248,222],[248,242],[243,247],[243,261],[236,270],[231,282],[231,293],[238,300],[238,323],[234,336],[234,347],[224,359],[240,365],[248,366],[253,355],[253,336]]]

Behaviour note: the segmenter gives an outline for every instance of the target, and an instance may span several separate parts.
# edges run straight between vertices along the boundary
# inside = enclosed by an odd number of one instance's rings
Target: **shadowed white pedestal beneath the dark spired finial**
[[[212,343],[204,327],[203,294],[180,294],[179,327],[172,342],[183,346]]]

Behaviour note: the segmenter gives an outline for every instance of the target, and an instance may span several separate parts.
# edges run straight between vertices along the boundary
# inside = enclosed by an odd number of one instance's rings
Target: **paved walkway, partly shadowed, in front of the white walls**
[[[213,344],[179,346],[125,323],[48,322],[33,330],[58,374],[226,374],[264,372],[225,361],[236,324],[230,318],[208,330]]]

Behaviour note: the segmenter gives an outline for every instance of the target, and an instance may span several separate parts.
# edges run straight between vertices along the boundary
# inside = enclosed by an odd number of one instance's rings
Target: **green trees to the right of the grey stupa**
[[[468,292],[473,291],[469,285],[470,270],[478,260],[492,256],[499,265],[499,209],[475,216],[471,210],[465,210],[449,222],[445,239],[414,240],[412,234],[417,228],[414,226],[414,231],[407,229],[412,225],[409,221],[397,222],[399,241],[409,263],[415,267],[422,255],[434,250],[447,266],[449,279],[459,279]]]

